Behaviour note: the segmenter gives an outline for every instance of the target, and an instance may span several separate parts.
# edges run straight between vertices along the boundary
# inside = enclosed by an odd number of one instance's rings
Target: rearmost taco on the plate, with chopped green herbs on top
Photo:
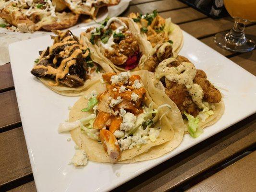
[[[139,26],[141,36],[148,40],[154,48],[159,43],[170,42],[173,52],[178,53],[183,46],[183,34],[177,24],[171,22],[171,18],[164,19],[158,15],[157,10],[145,15],[130,13],[129,16]]]

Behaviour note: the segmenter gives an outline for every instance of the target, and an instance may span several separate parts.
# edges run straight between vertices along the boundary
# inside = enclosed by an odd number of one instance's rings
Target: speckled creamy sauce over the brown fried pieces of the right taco
[[[169,81],[184,84],[194,103],[199,108],[207,110],[208,108],[202,102],[204,97],[203,89],[193,82],[196,74],[195,66],[190,62],[182,62],[178,67],[167,67],[168,64],[175,60],[174,58],[169,58],[160,62],[155,72],[155,82],[165,76]]]

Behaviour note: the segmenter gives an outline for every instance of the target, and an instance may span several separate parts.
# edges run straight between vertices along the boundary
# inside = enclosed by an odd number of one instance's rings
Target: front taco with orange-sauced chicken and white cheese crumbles
[[[183,138],[182,116],[147,73],[103,74],[105,84],[90,87],[74,104],[69,122],[61,123],[58,131],[71,131],[75,143],[92,161],[129,163],[156,158],[167,153],[167,148],[171,151]],[[163,145],[168,142],[172,142],[170,146]],[[151,148],[158,151],[152,154]],[[141,154],[145,155],[133,159]],[[128,159],[133,160],[125,161]]]

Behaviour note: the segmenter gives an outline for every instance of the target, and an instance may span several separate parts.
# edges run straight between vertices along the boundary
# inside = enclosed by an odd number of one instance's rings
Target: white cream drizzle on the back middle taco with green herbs
[[[114,33],[118,34],[118,33],[121,33],[122,30],[128,29],[127,25],[125,23],[123,23],[120,19],[118,19],[117,17],[110,18],[110,20],[108,21],[108,23],[106,24],[104,29],[108,29],[110,27],[110,24],[113,22],[120,24],[120,26],[117,27],[117,29],[112,33],[112,35],[110,36],[110,38],[106,44],[104,44],[100,41],[103,48],[108,49],[108,50],[113,50],[112,45],[115,44],[113,34]]]

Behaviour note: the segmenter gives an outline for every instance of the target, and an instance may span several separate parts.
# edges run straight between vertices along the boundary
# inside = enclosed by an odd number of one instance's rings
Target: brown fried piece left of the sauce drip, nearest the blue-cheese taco
[[[165,80],[166,87],[165,92],[171,100],[177,105],[183,114],[186,111],[188,114],[194,117],[198,115],[199,108],[193,102],[191,96],[189,95],[187,88],[184,84],[177,84],[169,80]]]

